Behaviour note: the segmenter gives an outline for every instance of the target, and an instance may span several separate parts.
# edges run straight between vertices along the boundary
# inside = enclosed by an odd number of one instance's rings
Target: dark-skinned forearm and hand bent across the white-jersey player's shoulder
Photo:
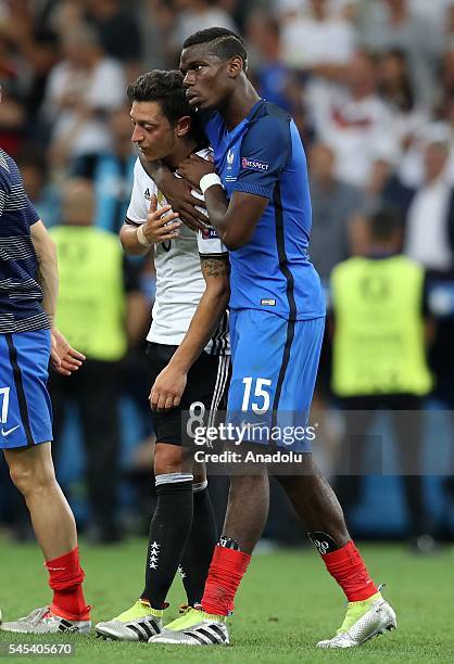
[[[199,189],[200,179],[207,173],[214,173],[214,165],[206,159],[191,154],[178,167],[178,173],[193,188]],[[230,251],[248,244],[252,238],[258,219],[268,205],[264,196],[235,191],[228,201],[219,184],[205,191],[205,203],[212,224],[222,241]]]

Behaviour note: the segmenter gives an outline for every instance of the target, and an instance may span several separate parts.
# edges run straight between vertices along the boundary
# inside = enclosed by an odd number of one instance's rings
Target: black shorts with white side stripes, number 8
[[[151,368],[151,385],[168,365],[178,346],[149,342],[147,357]],[[230,381],[230,356],[203,352],[188,371],[188,382],[181,401],[176,408],[152,412],[153,429],[157,443],[181,445],[181,413],[201,403],[207,413],[207,424],[213,425],[216,413],[226,410]]]

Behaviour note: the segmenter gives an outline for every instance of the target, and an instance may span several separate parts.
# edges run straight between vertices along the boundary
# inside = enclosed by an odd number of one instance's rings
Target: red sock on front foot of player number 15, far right
[[[378,592],[353,541],[349,541],[337,551],[325,553],[321,560],[344,591],[349,602],[360,602]]]

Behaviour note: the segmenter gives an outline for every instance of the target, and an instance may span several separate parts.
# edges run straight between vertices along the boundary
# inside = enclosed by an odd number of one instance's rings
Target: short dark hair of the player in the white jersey
[[[128,86],[127,95],[133,102],[159,102],[165,117],[174,126],[180,117],[190,115],[192,111],[186,100],[182,87],[182,74],[177,69],[164,72],[152,69],[139,76]]]

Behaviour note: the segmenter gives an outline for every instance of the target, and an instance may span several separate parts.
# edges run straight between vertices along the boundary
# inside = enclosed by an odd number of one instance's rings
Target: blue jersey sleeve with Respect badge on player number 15
[[[243,138],[234,191],[270,199],[290,152],[289,122],[275,116],[258,118]]]

